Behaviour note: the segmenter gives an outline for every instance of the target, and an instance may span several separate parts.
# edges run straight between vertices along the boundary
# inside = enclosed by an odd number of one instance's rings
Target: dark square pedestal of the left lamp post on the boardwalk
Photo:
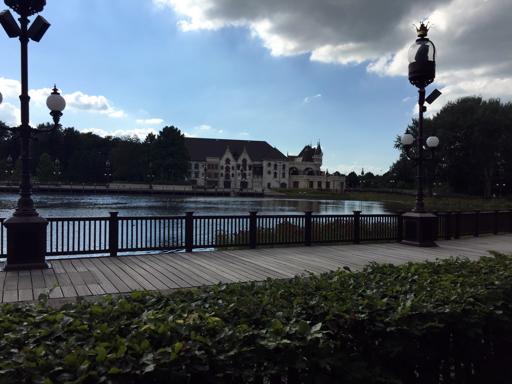
[[[11,216],[4,221],[7,229],[7,261],[4,270],[46,269],[46,227],[40,216]]]

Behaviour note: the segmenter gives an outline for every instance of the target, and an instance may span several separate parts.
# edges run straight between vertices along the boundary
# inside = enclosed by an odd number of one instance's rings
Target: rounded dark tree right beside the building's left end
[[[175,126],[165,126],[152,143],[153,169],[157,179],[183,181],[190,168],[185,136]]]

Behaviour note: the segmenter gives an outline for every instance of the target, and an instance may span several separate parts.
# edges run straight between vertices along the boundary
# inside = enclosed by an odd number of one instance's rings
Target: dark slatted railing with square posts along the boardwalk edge
[[[129,254],[144,251],[193,251],[227,247],[256,248],[401,241],[403,211],[364,215],[248,215],[47,218],[47,255]],[[512,232],[512,210],[434,212],[438,239]],[[7,231],[0,218],[0,258],[7,257]]]

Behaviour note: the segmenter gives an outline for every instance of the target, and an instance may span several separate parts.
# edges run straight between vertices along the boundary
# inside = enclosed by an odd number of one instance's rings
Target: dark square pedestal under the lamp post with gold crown
[[[403,240],[400,244],[415,247],[437,247],[438,219],[428,212],[408,212],[402,215]]]

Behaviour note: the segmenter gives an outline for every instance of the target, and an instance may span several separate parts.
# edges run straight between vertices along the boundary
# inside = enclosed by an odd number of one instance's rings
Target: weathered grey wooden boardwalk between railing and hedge
[[[402,264],[458,255],[477,260],[489,255],[488,250],[512,253],[512,233],[438,244],[429,248],[381,243],[58,259],[51,261],[51,269],[1,271],[0,302],[34,301],[55,284],[58,287],[50,303],[58,306],[76,296],[117,295],[134,289],[170,292],[219,282],[288,279],[305,271],[321,273],[344,266],[359,270],[372,261]]]

